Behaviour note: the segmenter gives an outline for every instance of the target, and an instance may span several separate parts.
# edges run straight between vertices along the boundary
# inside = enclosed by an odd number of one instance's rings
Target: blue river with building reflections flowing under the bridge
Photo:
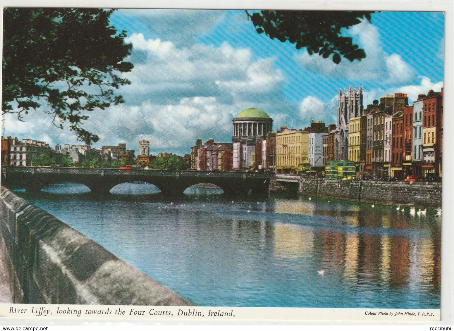
[[[15,190],[197,306],[440,307],[436,211],[220,192]]]

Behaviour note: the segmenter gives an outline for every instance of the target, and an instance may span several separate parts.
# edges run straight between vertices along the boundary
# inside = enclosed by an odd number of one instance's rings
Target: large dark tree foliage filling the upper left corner
[[[87,112],[123,103],[114,90],[131,84],[118,72],[133,64],[126,31],[109,25],[113,10],[64,8],[5,8],[3,16],[2,113],[18,119],[36,110],[54,124],[65,121],[78,139],[89,144],[99,137],[81,127]]]

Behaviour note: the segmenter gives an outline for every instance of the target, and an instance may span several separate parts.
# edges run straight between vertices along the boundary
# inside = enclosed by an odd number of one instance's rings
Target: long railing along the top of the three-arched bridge
[[[4,173],[60,173],[89,175],[136,175],[169,177],[213,177],[213,178],[264,178],[271,173],[233,172],[233,171],[192,171],[159,169],[118,169],[118,168],[64,168],[64,167],[3,167]]]

